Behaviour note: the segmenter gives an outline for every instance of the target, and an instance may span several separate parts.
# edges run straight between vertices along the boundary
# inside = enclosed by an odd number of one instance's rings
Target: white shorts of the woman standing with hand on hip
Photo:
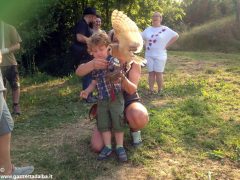
[[[151,57],[146,56],[148,72],[164,72],[167,56]]]

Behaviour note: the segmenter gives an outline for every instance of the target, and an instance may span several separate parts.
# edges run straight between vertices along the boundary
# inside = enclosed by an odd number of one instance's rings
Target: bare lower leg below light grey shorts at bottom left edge
[[[11,133],[0,136],[0,168],[4,168],[4,172],[2,174],[12,173],[10,142]]]

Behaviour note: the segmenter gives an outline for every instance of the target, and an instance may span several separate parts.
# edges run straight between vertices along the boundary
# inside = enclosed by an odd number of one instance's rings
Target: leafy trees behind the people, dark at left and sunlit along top
[[[127,13],[140,29],[151,24],[154,11],[161,11],[164,22],[169,26],[176,26],[184,16],[180,4],[174,0],[1,0],[1,14],[8,17],[6,22],[16,26],[23,40],[18,56],[22,73],[40,71],[68,75],[73,71],[69,52],[73,28],[87,6],[96,7],[103,19],[102,28],[106,31],[112,28],[111,13],[114,9]]]

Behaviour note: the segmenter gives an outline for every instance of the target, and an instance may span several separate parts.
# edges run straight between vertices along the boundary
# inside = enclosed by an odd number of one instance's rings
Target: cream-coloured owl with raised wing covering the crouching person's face
[[[125,54],[128,61],[134,60],[141,64],[141,58],[134,58],[133,54],[139,53],[143,48],[143,39],[136,23],[118,10],[112,12],[111,20],[115,36],[119,41],[119,51]],[[130,47],[135,51],[130,51]]]

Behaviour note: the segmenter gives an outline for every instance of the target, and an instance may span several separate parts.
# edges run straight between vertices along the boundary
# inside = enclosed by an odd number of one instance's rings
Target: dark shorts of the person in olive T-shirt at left
[[[20,87],[20,79],[17,65],[1,66],[1,70],[4,86],[6,87],[8,81],[12,90],[17,90]]]

